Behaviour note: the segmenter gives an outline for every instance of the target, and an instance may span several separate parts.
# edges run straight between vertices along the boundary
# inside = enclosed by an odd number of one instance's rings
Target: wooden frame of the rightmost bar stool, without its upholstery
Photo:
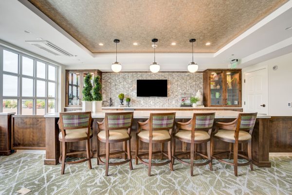
[[[253,160],[252,160],[252,139],[239,141],[238,140],[238,136],[239,136],[239,130],[249,131],[249,134],[252,135],[253,129],[254,129],[254,127],[253,128],[240,128],[241,117],[242,116],[255,116],[256,117],[256,115],[257,115],[257,113],[239,113],[238,116],[237,116],[237,119],[234,120],[233,122],[230,122],[230,123],[217,122],[216,123],[216,129],[212,134],[213,135],[212,139],[211,139],[211,145],[212,145],[211,156],[212,156],[212,159],[219,160],[220,162],[223,162],[225,164],[233,165],[234,166],[234,175],[235,176],[237,176],[237,167],[238,166],[250,165],[251,170],[252,171],[254,170],[254,168],[253,168]],[[226,139],[226,138],[219,138],[219,137],[215,136],[215,134],[218,133],[219,129],[226,129],[226,130],[234,131],[235,140],[230,140],[230,139]],[[229,151],[225,151],[225,152],[220,152],[220,153],[214,154],[214,149],[213,149],[214,139],[218,139],[218,140],[221,140],[223,142],[229,142]],[[248,149],[247,149],[248,156],[238,154],[238,143],[242,143],[242,144],[243,143],[248,143]],[[233,144],[233,151],[232,151],[232,144]],[[228,159],[229,160],[231,160],[231,154],[233,153],[234,162],[233,163],[232,162],[228,162],[226,160],[222,160],[222,159],[219,159],[218,157],[216,157],[217,155],[224,154],[224,153],[228,153]],[[245,160],[248,160],[248,162],[238,163],[238,160],[237,160],[238,156],[242,157]]]

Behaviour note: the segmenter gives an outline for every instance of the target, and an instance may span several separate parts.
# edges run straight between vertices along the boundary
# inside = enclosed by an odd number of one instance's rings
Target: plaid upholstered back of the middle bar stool
[[[171,113],[150,113],[150,124],[153,130],[172,129],[175,119],[175,112]]]

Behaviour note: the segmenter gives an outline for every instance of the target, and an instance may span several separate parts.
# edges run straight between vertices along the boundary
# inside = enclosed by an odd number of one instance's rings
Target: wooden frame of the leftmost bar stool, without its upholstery
[[[88,121],[88,126],[87,126],[87,137],[86,138],[77,138],[77,139],[65,139],[66,136],[66,130],[68,129],[80,129],[80,128],[86,128],[86,126],[74,126],[74,127],[64,127],[63,124],[63,115],[82,115],[82,114],[89,114],[89,121]],[[58,125],[59,125],[59,129],[61,129],[62,132],[62,139],[59,138],[59,141],[62,142],[62,154],[60,155],[59,158],[59,163],[62,164],[61,167],[61,175],[64,174],[65,172],[65,165],[66,164],[76,164],[76,163],[81,163],[81,162],[85,162],[88,161],[88,165],[89,165],[89,169],[92,168],[91,166],[91,158],[93,157],[93,152],[91,151],[91,143],[90,143],[90,139],[92,138],[93,134],[90,135],[90,130],[92,129],[92,124],[93,124],[93,120],[91,118],[91,112],[60,112],[60,117],[59,117],[59,121],[58,121]],[[86,151],[78,151],[78,152],[70,152],[67,153],[67,142],[79,142],[79,141],[83,141],[86,140]],[[66,158],[68,155],[76,155],[76,154],[82,154],[82,153],[86,153],[87,154],[87,158],[82,159],[82,160],[76,160],[76,161],[67,161],[66,162]]]

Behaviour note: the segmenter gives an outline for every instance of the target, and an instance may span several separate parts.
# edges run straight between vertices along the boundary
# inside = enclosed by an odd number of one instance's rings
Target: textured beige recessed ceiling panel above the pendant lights
[[[214,53],[288,0],[29,1],[92,53],[114,53],[116,38],[119,53],[153,52],[152,38],[157,52],[191,52],[196,38],[194,52]]]

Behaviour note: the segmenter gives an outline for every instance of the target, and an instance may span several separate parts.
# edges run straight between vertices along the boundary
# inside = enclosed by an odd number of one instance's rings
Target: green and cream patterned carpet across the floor
[[[272,168],[233,167],[214,160],[213,169],[195,167],[190,177],[188,166],[175,162],[175,171],[169,166],[152,168],[128,163],[110,166],[105,177],[105,166],[92,169],[88,163],[67,165],[61,176],[61,165],[43,165],[43,154],[13,154],[0,157],[0,195],[17,195],[20,188],[31,189],[28,195],[291,195],[292,157],[271,157]],[[118,161],[118,160],[114,160]]]

